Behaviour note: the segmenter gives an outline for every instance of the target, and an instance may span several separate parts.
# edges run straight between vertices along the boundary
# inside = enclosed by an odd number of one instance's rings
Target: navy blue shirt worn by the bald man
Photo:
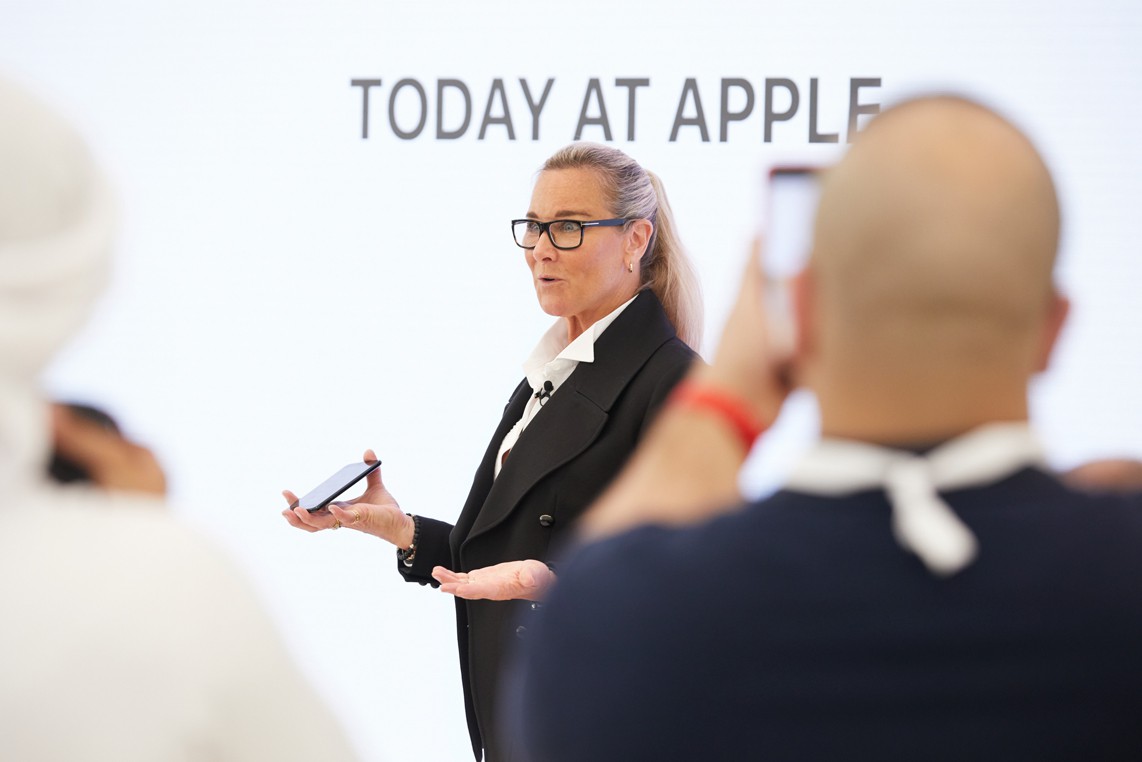
[[[580,548],[512,677],[531,759],[1142,760],[1142,496],[943,494],[940,578],[880,491],[778,492]]]

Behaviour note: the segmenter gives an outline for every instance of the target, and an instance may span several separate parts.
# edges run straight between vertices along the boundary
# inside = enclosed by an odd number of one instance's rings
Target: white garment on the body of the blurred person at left
[[[244,575],[161,503],[2,499],[0,759],[356,759]]]

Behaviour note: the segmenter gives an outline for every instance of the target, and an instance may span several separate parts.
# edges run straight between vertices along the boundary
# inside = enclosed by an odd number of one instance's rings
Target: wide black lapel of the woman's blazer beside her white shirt
[[[539,480],[590,447],[622,390],[674,335],[658,297],[652,291],[641,292],[598,337],[595,361],[580,363],[523,430],[471,531],[460,537],[467,542],[499,524]],[[502,434],[497,432],[489,448],[492,457],[506,433],[506,428]]]

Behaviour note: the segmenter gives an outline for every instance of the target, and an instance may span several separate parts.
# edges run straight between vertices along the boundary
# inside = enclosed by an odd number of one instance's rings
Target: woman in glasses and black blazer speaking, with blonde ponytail
[[[283,512],[306,531],[375,535],[396,546],[407,580],[457,596],[468,730],[476,759],[483,749],[492,762],[512,748],[496,737],[502,655],[526,636],[530,601],[555,579],[545,559],[634,449],[701,331],[662,186],[621,151],[574,143],[557,152],[512,233],[540,306],[560,320],[524,362],[456,523],[405,514],[379,470],[356,500]]]

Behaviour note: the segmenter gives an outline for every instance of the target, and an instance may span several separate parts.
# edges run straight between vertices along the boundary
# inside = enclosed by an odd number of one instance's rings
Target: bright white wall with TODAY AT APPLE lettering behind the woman
[[[1142,456],[1137,3],[170,5],[0,5],[0,71],[81,125],[123,200],[113,288],[50,387],[106,406],[160,452],[177,510],[243,560],[367,759],[466,759],[451,601],[401,581],[377,542],[290,529],[278,492],[373,447],[407,510],[455,518],[549,322],[507,220],[526,209],[544,158],[574,137],[592,78],[614,144],[669,190],[703,282],[707,351],[757,225],[762,167],[843,147],[809,145],[812,78],[818,128],[842,142],[853,78],[882,80],[862,90],[869,103],[946,87],[1004,109],[1046,154],[1064,204],[1059,278],[1076,307],[1035,396],[1052,458]],[[413,141],[387,120],[403,78],[429,99]],[[453,141],[434,137],[447,78],[473,99]],[[497,78],[514,141],[502,125],[477,136]],[[520,78],[536,96],[555,80],[538,141]],[[650,80],[635,142],[619,78]],[[689,78],[709,142],[692,126],[669,139]],[[723,78],[756,95],[726,142]],[[801,91],[769,144],[767,78]],[[368,139],[353,79],[381,80]],[[460,102],[449,97],[455,128]],[[743,105],[735,90],[729,107]],[[403,90],[402,129],[417,106]],[[811,434],[803,404],[759,448],[749,488],[771,486]]]

